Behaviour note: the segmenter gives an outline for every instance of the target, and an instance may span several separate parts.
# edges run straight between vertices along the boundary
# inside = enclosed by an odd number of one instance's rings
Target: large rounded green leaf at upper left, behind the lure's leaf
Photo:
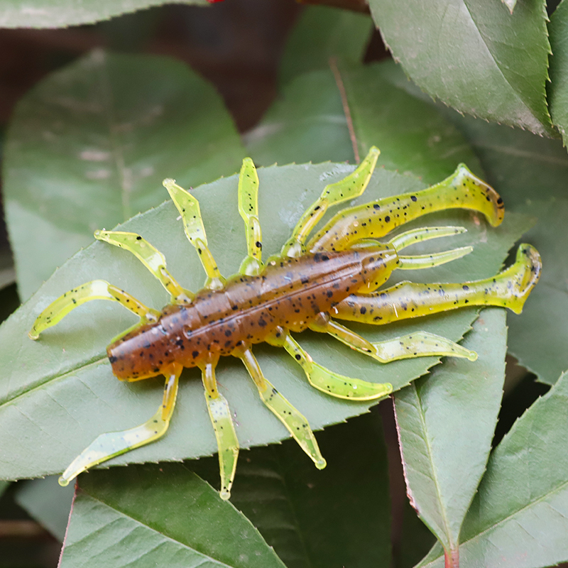
[[[6,137],[4,199],[27,298],[92,233],[163,202],[161,182],[199,185],[240,168],[221,98],[185,65],[95,51],[18,102]]]

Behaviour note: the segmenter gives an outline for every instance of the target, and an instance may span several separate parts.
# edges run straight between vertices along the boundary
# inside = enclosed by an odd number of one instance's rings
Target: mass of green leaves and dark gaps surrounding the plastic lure
[[[265,166],[354,163],[376,144],[386,168],[374,180],[376,191],[388,194],[436,182],[463,160],[503,195],[507,221],[493,232],[467,215],[448,216],[468,224],[477,256],[455,272],[431,277],[459,281],[495,273],[530,226],[523,241],[540,250],[545,272],[522,317],[506,322],[501,310],[482,312],[464,339],[480,354],[476,365],[447,361],[393,399],[408,491],[425,524],[405,497],[393,403],[387,401],[318,435],[330,464],[324,472],[312,469],[289,441],[243,452],[231,503],[221,503],[203,481],[217,483],[214,457],[82,476],[60,564],[439,566],[440,545],[428,553],[436,538],[454,566],[458,543],[462,566],[545,567],[567,561],[567,381],[557,379],[568,368],[568,249],[562,231],[568,4],[371,0],[372,19],[357,1],[341,3],[341,10],[302,9],[288,0],[146,9],[158,4],[35,0],[30,7],[0,1],[4,209],[16,261],[14,270],[4,234],[3,318],[18,304],[14,279],[27,300],[56,266],[87,247],[0,328],[1,478],[60,471],[84,445],[81,436],[91,439],[93,432],[111,430],[117,414],[109,410],[111,403],[125,410],[121,427],[155,405],[155,385],[126,390],[104,364],[92,366],[92,378],[83,374],[77,381],[73,374],[78,368],[73,365],[87,368],[102,353],[110,327],[126,327],[129,320],[116,310],[93,304],[84,312],[91,327],[85,328],[82,318],[69,321],[67,331],[62,327],[52,343],[40,347],[28,342],[24,331],[38,302],[70,288],[77,283],[73,278],[87,280],[87,273],[100,278],[107,271],[113,282],[124,280],[135,295],[159,305],[160,291],[146,286],[149,278],[136,263],[89,244],[97,227],[110,228],[158,206],[165,175],[195,187],[230,176],[244,155]],[[120,16],[138,8],[145,10]],[[116,17],[105,20],[111,16]],[[74,27],[26,29],[58,26]],[[110,166],[109,155],[94,148],[109,148]],[[282,225],[273,223],[267,231],[274,246],[283,240],[278,231],[285,234],[299,213],[285,204],[299,200],[297,195],[312,199],[298,171],[261,172],[267,180],[262,198],[267,209],[279,212]],[[322,176],[339,179],[347,169],[321,165],[305,171],[316,195]],[[298,180],[290,182],[295,175]],[[198,190],[204,211],[211,208],[206,226],[219,250],[226,242],[224,226],[236,226],[239,219],[234,212],[231,217],[229,203],[222,219],[216,217],[215,195],[235,184],[229,178]],[[170,228],[167,205],[130,223],[160,244],[174,273],[192,283],[197,266],[182,262],[187,251]],[[227,251],[226,266],[238,265],[236,254]],[[464,312],[461,319],[444,316],[427,325],[459,339],[474,316]],[[332,347],[321,346],[319,339],[305,341],[318,360],[342,364],[341,351],[334,361]],[[62,344],[67,354],[61,353]],[[505,377],[507,349],[520,364],[509,356]],[[302,391],[285,359],[270,350],[261,355],[263,366],[274,364],[271,376],[282,373],[289,381],[286,394],[300,389],[302,410],[313,424],[364,412],[362,405],[322,403],[309,389]],[[359,373],[373,373],[365,361],[347,359],[344,364]],[[403,386],[433,363],[381,371],[393,373]],[[69,369],[65,388],[56,392],[43,383],[49,378],[63,384]],[[248,416],[246,445],[284,439],[285,433],[271,431],[270,420],[262,422],[263,409],[246,398],[245,383],[238,382],[231,365],[224,377],[226,388],[233,385],[231,401],[243,393],[235,404]],[[92,400],[77,390],[83,383],[96,393]],[[128,454],[123,463],[214,452],[211,433],[200,426],[199,389],[191,381],[184,388],[184,400],[195,405],[176,417],[165,443]],[[68,424],[67,415],[80,420]],[[86,415],[89,420],[83,420]],[[62,437],[60,432],[73,430],[75,423],[80,424],[75,440]],[[255,438],[258,430],[266,437]],[[1,490],[0,565],[55,565],[72,494],[53,478],[5,484]]]

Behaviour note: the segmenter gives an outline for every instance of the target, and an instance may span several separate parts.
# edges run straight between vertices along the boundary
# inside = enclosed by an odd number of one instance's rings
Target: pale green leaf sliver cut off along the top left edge
[[[207,0],[184,0],[207,5]],[[63,28],[160,6],[164,0],[0,0],[2,28]]]

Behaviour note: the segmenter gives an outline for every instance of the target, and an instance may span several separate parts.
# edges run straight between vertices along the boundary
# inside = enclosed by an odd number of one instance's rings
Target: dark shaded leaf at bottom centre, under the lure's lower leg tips
[[[390,498],[378,413],[317,435],[327,467],[315,469],[293,440],[243,454],[231,503],[288,568],[388,566]],[[219,485],[216,459],[188,464]]]

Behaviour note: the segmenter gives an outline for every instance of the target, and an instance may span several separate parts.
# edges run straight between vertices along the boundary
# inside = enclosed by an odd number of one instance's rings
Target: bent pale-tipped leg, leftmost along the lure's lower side
[[[59,478],[59,484],[66,486],[72,479],[75,479],[90,467],[129,452],[131,449],[150,444],[150,442],[162,437],[170,425],[182,368],[182,366],[174,364],[170,375],[166,376],[162,404],[150,420],[130,430],[108,432],[94,439],[94,442],[89,444],[65,469]]]

